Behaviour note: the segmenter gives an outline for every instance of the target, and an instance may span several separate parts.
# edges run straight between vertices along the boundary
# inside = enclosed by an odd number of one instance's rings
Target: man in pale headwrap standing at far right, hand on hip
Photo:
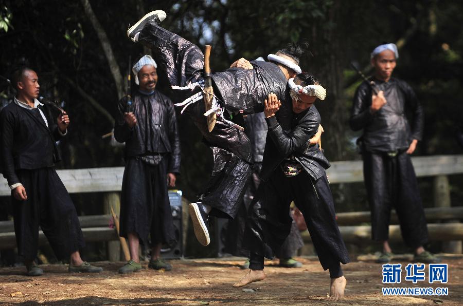
[[[358,144],[363,158],[363,171],[371,209],[372,239],[382,243],[377,262],[387,263],[393,256],[388,243],[391,208],[400,220],[402,237],[415,252],[414,261],[439,262],[425,251],[428,228],[410,155],[423,133],[423,109],[413,89],[391,75],[399,58],[395,44],[383,44],[371,52],[378,95],[369,82],[355,92],[350,127],[363,130]],[[408,122],[405,110],[413,115]]]

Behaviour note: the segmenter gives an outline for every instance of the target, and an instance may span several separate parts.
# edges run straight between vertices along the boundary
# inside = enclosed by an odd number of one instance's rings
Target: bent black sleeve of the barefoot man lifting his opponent
[[[284,156],[289,156],[298,148],[305,146],[310,137],[315,135],[319,125],[319,121],[315,118],[302,119],[303,122],[299,122],[295,128],[287,133],[283,131],[275,116],[265,118],[265,120],[269,126],[268,134],[278,151]]]

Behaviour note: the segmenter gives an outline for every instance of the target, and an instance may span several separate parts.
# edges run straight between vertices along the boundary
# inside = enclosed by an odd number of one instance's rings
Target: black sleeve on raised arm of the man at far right
[[[354,131],[365,128],[373,119],[370,112],[371,90],[365,83],[362,83],[355,91],[352,110],[350,112],[349,125]]]

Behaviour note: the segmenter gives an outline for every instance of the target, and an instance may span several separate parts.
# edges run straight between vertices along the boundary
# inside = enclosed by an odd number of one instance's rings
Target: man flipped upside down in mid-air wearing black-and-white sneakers
[[[172,97],[179,101],[186,99],[181,105],[212,150],[212,177],[198,201],[189,206],[194,233],[201,244],[208,245],[208,216],[234,218],[252,173],[250,140],[231,122],[231,116],[262,111],[268,92],[274,92],[283,101],[287,80],[295,75],[294,69],[300,69],[297,64],[302,52],[299,47],[290,46],[272,56],[274,63],[254,61],[254,69],[230,68],[213,73],[215,102],[211,110],[205,109],[199,101],[204,85],[204,55],[198,46],[160,27],[158,24],[165,17],[164,11],[150,12],[129,28],[127,35],[151,48],[159,72],[167,75],[172,86]],[[291,106],[281,108],[279,116],[284,118],[281,122],[289,125]],[[207,111],[218,114],[211,132],[204,117]]]

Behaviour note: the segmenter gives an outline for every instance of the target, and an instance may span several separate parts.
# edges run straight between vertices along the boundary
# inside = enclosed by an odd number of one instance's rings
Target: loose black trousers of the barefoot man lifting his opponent
[[[302,172],[285,177],[277,168],[262,182],[248,210],[244,247],[262,258],[273,258],[290,233],[289,206],[294,203],[304,215],[318,259],[324,270],[350,261],[334,212],[334,202],[326,176],[312,182]]]

